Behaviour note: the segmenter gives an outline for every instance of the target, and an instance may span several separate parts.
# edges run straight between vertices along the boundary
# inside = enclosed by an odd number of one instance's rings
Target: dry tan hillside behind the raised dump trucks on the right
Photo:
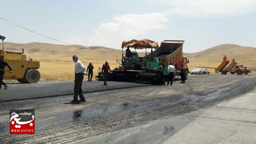
[[[239,45],[224,44],[211,47],[207,50],[196,53],[183,53],[190,60],[189,66],[192,67],[217,67],[224,56],[230,61],[235,59],[238,64],[248,66],[256,71],[256,48],[242,47]]]

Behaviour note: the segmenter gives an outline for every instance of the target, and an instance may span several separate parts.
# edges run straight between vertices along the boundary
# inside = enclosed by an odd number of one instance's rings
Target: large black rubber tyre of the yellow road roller
[[[40,73],[37,69],[29,69],[25,73],[24,80],[26,80],[27,83],[37,83],[40,77]]]

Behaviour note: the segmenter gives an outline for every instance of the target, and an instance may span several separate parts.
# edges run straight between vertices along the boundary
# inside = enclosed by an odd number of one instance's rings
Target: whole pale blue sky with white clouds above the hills
[[[71,44],[120,49],[123,40],[185,40],[184,52],[256,47],[255,0],[5,0],[1,18]],[[63,44],[0,19],[6,42]]]

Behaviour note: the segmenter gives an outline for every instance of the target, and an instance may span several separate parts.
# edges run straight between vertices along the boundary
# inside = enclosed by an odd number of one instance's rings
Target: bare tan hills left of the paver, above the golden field
[[[77,46],[77,47],[76,47]],[[4,48],[7,51],[19,52],[21,48],[25,50],[25,54],[34,59],[44,58],[71,58],[74,53],[78,54],[80,59],[102,61],[109,59],[112,63],[116,62],[116,56],[121,56],[122,51],[102,46],[85,47],[83,45],[53,45],[49,43],[31,42],[25,44],[17,44],[5,42]]]

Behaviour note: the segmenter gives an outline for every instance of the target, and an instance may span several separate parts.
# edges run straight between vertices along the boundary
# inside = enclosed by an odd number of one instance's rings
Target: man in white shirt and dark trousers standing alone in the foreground
[[[73,61],[76,62],[75,65],[75,86],[74,86],[74,99],[71,102],[85,102],[85,96],[83,95],[82,84],[83,84],[83,75],[85,73],[85,66],[83,63],[78,60],[78,56],[76,54],[72,57]],[[78,94],[80,100],[78,101]]]

